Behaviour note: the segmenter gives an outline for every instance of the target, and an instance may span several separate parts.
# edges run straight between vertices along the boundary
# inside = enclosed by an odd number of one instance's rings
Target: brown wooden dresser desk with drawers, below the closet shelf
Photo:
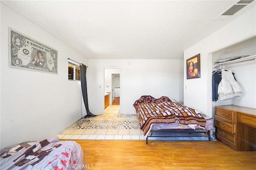
[[[256,151],[256,109],[216,106],[216,138],[236,151]]]

